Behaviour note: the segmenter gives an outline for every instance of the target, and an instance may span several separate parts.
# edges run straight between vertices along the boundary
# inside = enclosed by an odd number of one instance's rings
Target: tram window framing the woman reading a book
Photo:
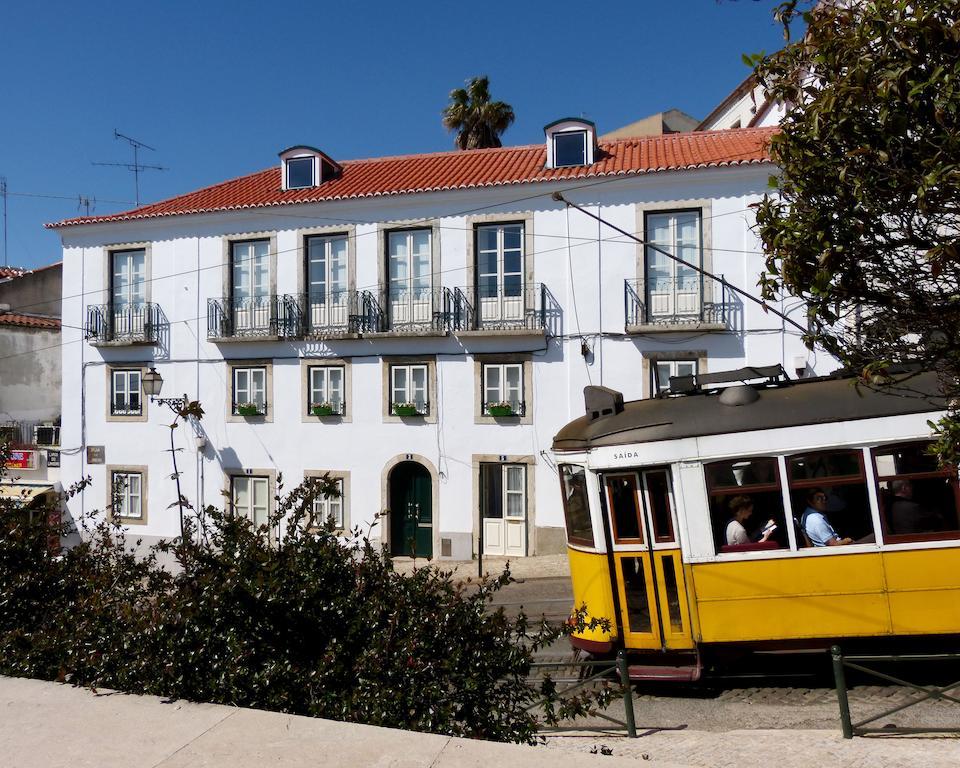
[[[704,465],[704,472],[717,552],[779,549],[788,545],[775,458],[715,461]],[[731,525],[734,521],[736,524]],[[775,527],[768,533],[771,521]]]

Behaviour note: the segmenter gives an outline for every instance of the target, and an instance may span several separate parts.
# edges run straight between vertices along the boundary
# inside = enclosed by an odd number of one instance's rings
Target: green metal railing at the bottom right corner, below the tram
[[[960,681],[944,686],[921,685],[919,683],[912,683],[908,680],[895,677],[879,669],[864,666],[863,664],[863,662],[910,663],[919,661],[958,661],[960,660],[960,653],[910,654],[905,656],[890,654],[845,656],[840,650],[839,646],[835,645],[830,649],[830,655],[833,658],[833,679],[837,690],[837,703],[840,705],[840,728],[843,731],[843,738],[852,739],[854,736],[863,736],[867,733],[960,733],[960,725],[953,728],[938,728],[932,726],[890,727],[889,725],[885,725],[882,728],[869,727],[871,723],[875,723],[881,718],[889,717],[896,712],[902,712],[908,707],[916,706],[924,701],[949,701],[954,704],[960,704],[960,693],[955,696],[950,694],[950,691],[960,689]],[[898,704],[897,706],[885,709],[883,712],[871,715],[864,720],[853,722],[853,719],[850,716],[850,699],[848,696],[846,677],[847,669],[855,670],[880,680],[885,680],[888,683],[905,686],[923,695],[904,704]]]

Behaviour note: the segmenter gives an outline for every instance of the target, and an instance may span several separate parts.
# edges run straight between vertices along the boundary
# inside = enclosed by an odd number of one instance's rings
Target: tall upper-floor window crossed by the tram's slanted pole
[[[647,241],[679,259],[701,265],[700,211],[648,213]],[[697,317],[700,275],[654,248],[646,248],[647,320]]]

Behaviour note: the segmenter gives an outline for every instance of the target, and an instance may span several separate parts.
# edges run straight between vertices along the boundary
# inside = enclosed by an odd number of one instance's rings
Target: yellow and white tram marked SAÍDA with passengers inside
[[[575,604],[610,620],[575,647],[693,680],[723,652],[960,636],[960,492],[925,453],[942,402],[780,366],[670,386],[587,387],[554,439]]]

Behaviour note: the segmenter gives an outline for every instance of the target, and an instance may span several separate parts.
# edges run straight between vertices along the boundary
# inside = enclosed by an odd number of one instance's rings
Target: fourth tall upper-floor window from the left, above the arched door
[[[388,306],[391,327],[433,322],[431,232],[413,229],[387,236]]]

